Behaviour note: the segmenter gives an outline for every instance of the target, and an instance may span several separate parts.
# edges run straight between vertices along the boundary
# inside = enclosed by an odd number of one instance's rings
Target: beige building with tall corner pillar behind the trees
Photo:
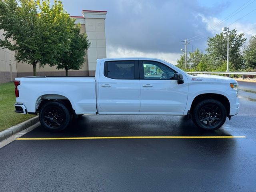
[[[82,16],[70,16],[81,24],[81,32],[86,32],[91,45],[86,51],[86,62],[80,70],[68,71],[69,76],[94,76],[96,60],[106,58],[105,18],[106,11],[82,10]],[[2,31],[0,31],[1,38]],[[0,48],[0,83],[10,82],[15,77],[33,76],[33,66],[26,63],[17,63],[15,53]],[[65,76],[64,70],[56,67],[37,66],[38,76]]]

